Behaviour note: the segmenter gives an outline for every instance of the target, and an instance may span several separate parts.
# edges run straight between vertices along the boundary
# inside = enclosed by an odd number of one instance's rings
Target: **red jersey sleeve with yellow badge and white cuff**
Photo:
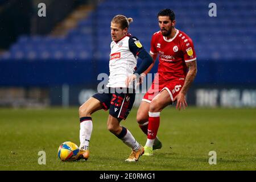
[[[196,52],[191,38],[184,39],[182,50],[185,62],[196,60]]]

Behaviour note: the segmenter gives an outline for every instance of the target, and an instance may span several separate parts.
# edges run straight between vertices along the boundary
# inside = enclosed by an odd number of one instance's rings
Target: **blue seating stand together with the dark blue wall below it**
[[[130,33],[149,51],[151,36],[159,30],[156,15],[164,8],[175,11],[176,28],[193,40],[199,70],[195,84],[256,84],[255,1],[214,2],[217,17],[208,15],[211,2],[203,0],[101,1],[64,36],[19,36],[0,55],[0,85],[97,85],[97,75],[108,74],[113,16],[133,18]],[[151,73],[156,69],[157,64]]]

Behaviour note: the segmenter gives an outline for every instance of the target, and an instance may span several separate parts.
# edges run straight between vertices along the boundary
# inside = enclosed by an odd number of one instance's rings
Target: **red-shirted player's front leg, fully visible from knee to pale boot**
[[[145,144],[144,155],[153,155],[152,146],[155,142],[156,135],[160,124],[160,112],[164,107],[172,104],[170,94],[166,89],[162,90],[150,103],[148,111],[148,135],[147,142]]]

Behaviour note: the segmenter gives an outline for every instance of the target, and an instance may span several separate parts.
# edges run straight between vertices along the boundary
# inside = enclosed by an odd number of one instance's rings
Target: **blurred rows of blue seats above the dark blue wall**
[[[109,23],[116,14],[134,18],[130,26],[131,34],[136,35],[149,50],[151,35],[159,30],[156,14],[166,7],[176,13],[176,28],[193,39],[200,60],[232,61],[234,57],[255,60],[255,1],[215,3],[217,17],[208,16],[208,1],[103,1],[64,38],[20,36],[9,52],[1,56],[1,60],[108,61],[111,41]]]

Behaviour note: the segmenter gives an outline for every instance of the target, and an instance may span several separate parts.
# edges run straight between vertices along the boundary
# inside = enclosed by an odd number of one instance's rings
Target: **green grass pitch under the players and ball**
[[[146,135],[135,121],[133,109],[121,125],[144,145]],[[154,156],[125,163],[130,148],[106,128],[108,111],[93,114],[88,161],[61,162],[57,149],[65,141],[79,145],[79,115],[72,109],[0,109],[0,170],[255,170],[256,109],[199,109],[161,113]],[[46,165],[39,165],[39,151]],[[210,165],[209,151],[217,152]]]

